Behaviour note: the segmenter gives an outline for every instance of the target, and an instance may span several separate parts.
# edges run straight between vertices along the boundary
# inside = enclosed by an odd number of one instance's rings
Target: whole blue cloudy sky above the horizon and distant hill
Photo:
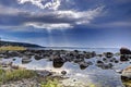
[[[131,0],[0,0],[2,40],[131,48]]]

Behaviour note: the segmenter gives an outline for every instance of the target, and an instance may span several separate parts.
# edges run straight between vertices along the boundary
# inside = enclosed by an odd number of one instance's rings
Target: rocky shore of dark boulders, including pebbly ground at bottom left
[[[128,48],[121,48],[119,52],[104,52],[102,54],[97,54],[95,51],[68,51],[68,50],[21,50],[21,51],[0,51],[0,59],[12,59],[12,61],[3,62],[0,61],[0,70],[4,71],[13,71],[23,69],[19,65],[14,65],[13,61],[15,61],[14,57],[19,57],[22,59],[22,63],[26,64],[32,62],[32,58],[35,60],[48,59],[48,61],[52,61],[53,67],[58,69],[61,67],[66,62],[73,62],[80,65],[81,70],[85,70],[90,65],[93,65],[92,61],[87,61],[88,59],[96,58],[97,61],[95,65],[103,70],[112,70],[116,63],[121,63],[126,61],[130,61],[131,59],[131,51]],[[116,58],[120,57],[120,59]],[[122,78],[123,77],[131,77],[131,67],[127,67],[122,71]],[[26,69],[24,69],[26,70]],[[38,77],[56,77],[55,72],[49,72],[46,70],[43,71],[35,71],[37,73],[37,77],[32,78],[23,78],[21,80],[15,82],[5,82],[1,84],[1,87],[40,87],[40,83]],[[67,71],[62,71],[58,78],[62,78],[61,75],[66,75]]]

